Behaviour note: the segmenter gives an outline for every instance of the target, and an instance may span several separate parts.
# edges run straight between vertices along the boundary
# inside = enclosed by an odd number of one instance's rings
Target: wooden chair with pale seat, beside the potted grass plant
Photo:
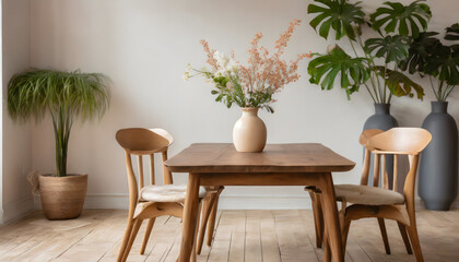
[[[125,148],[129,184],[128,226],[117,259],[117,261],[126,261],[144,219],[148,219],[148,224],[140,249],[141,254],[145,251],[155,217],[172,215],[181,218],[187,186],[173,184],[172,174],[166,166],[164,166],[164,162],[167,160],[168,146],[174,142],[173,136],[167,131],[163,129],[149,130],[142,128],[121,129],[116,133],[116,140],[121,147]],[[163,186],[155,184],[154,154],[156,153],[162,154]],[[138,156],[139,182],[133,170],[131,155]],[[143,156],[145,155],[150,157],[149,186],[144,184],[143,177]],[[216,201],[222,190],[223,188],[216,188],[208,192],[203,187],[199,189],[200,201],[205,199],[205,209],[203,211],[203,218],[205,218],[205,221],[210,216],[210,213],[216,213],[214,210],[216,210]],[[211,218],[212,217],[215,219],[214,216],[211,216]],[[202,224],[204,225],[205,230],[205,223]],[[209,228],[211,226],[212,231],[210,235],[212,237],[214,226],[214,222],[212,224],[212,221]],[[204,230],[201,230],[202,234],[204,234]],[[196,252],[192,253],[191,261],[196,261]]]

